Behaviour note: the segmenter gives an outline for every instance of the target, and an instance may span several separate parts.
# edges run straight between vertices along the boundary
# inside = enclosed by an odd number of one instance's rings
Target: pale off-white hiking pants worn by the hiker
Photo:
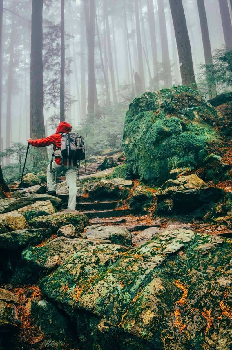
[[[52,162],[52,171],[50,168],[51,165],[49,163],[47,172],[48,191],[56,191],[56,172],[64,170],[67,186],[69,188],[68,209],[75,210],[77,203],[77,167],[62,167],[62,165]]]

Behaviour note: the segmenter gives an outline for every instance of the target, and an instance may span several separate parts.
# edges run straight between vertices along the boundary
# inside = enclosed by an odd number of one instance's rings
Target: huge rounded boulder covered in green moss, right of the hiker
[[[126,113],[123,148],[133,173],[161,185],[170,170],[197,167],[219,143],[215,123],[222,115],[195,90],[173,86],[146,92]]]

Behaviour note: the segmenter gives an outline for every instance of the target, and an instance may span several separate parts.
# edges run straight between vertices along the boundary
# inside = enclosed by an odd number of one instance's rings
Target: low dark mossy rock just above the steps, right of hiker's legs
[[[129,196],[129,189],[122,188],[110,180],[101,180],[88,187],[89,196],[93,198],[123,198]]]

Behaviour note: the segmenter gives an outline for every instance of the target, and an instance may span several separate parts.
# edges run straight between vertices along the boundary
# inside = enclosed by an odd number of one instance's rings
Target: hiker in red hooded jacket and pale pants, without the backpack
[[[77,165],[71,162],[68,162],[67,159],[64,159],[63,165],[61,162],[61,139],[63,133],[69,133],[72,130],[72,126],[66,121],[61,121],[57,127],[55,134],[48,136],[44,139],[32,140],[28,139],[28,143],[34,147],[45,147],[53,144],[55,162],[51,161],[51,164],[48,165],[47,171],[47,194],[54,195],[56,193],[56,172],[64,170],[67,186],[69,188],[69,197],[68,197],[68,209],[75,210],[77,203]],[[70,164],[69,164],[70,163]]]

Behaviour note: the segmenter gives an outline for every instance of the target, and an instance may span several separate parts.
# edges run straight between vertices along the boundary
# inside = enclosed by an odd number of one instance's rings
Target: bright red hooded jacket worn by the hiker
[[[44,147],[44,146],[50,146],[53,144],[53,149],[55,151],[57,148],[61,148],[61,138],[62,138],[61,134],[68,133],[70,131],[72,131],[72,126],[66,123],[66,121],[61,121],[61,123],[57,127],[55,134],[45,137],[45,139],[29,141],[29,144],[31,144],[34,147]],[[60,158],[55,158],[55,162],[61,165]]]

